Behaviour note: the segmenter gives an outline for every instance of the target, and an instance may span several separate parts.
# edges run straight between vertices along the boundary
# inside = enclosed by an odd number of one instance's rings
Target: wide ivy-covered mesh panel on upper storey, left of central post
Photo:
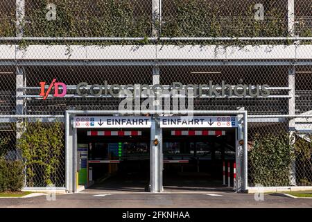
[[[25,35],[144,37],[151,34],[151,1],[26,0]]]

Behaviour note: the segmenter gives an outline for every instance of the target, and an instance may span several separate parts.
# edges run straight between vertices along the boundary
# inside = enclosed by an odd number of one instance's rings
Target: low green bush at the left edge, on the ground
[[[0,158],[0,192],[19,191],[24,185],[23,170],[23,162]]]

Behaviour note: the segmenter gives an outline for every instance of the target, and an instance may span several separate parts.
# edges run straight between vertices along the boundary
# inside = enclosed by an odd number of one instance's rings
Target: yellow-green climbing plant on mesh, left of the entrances
[[[43,123],[24,123],[26,131],[18,139],[26,166],[29,186],[38,186],[37,178],[43,178],[44,184],[55,184],[64,151],[64,131],[62,123],[55,122],[44,126]]]

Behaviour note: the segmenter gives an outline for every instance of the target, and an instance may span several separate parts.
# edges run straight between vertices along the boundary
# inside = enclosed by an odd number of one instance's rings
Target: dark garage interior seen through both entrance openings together
[[[233,190],[235,133],[235,128],[163,129],[164,191]],[[80,128],[77,135],[79,186],[150,191],[150,129]]]

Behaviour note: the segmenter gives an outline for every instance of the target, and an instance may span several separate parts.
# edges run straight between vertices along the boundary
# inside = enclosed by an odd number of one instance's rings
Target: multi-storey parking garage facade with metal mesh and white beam
[[[10,12],[22,12],[22,17],[33,21],[33,16],[41,15],[30,10],[42,6],[36,1],[18,2],[3,3],[8,17]],[[279,139],[279,133],[311,146],[306,138],[312,126],[312,50],[306,34],[311,27],[302,4],[309,2],[263,1],[268,11],[277,8],[285,15],[270,15],[265,23],[271,24],[276,16],[284,31],[264,36],[268,28],[263,28],[250,39],[244,39],[250,33],[236,33],[237,39],[229,36],[233,27],[225,26],[223,19],[238,19],[235,13],[218,15],[225,33],[216,36],[170,31],[178,26],[179,21],[173,21],[176,9],[184,5],[164,0],[163,4],[135,4],[137,20],[123,24],[137,27],[140,19],[150,15],[143,33],[148,37],[137,32],[96,36],[87,31],[32,35],[34,21],[24,24],[24,32],[16,36],[0,32],[0,135],[10,138],[6,158],[24,158],[17,144],[25,132],[34,130],[31,124],[39,121],[53,129],[60,123],[64,147],[57,154],[54,174],[49,175],[58,189],[162,192],[310,187],[311,158],[302,160],[299,151],[284,177],[276,171],[278,164],[256,165],[250,154],[262,155],[257,148],[265,144],[259,137]],[[81,10],[94,12],[92,7],[86,4]],[[300,22],[288,12],[294,12]],[[250,15],[243,17],[244,27],[250,28]],[[173,94],[177,83],[184,90]],[[154,87],[154,92],[137,93],[136,87]],[[166,92],[159,99],[160,88]],[[130,96],[120,94],[125,89]],[[146,110],[141,109],[143,104]],[[28,179],[26,173],[24,187],[46,187],[50,180],[43,178],[42,166],[31,167],[37,174]],[[266,183],[260,171],[273,179]]]

